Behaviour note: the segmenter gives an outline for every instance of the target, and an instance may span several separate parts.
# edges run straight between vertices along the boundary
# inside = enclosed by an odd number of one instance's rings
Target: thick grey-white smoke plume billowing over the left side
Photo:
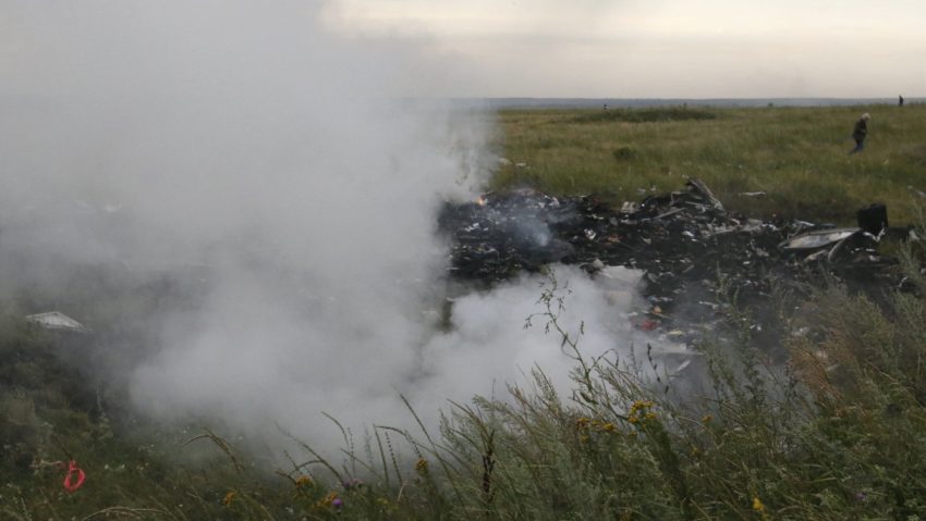
[[[151,318],[154,346],[107,347],[141,410],[331,449],[322,411],[401,426],[400,394],[432,418],[535,364],[565,383],[559,338],[523,330],[540,278],[435,327],[436,208],[473,196],[490,128],[403,101],[443,74],[425,49],[328,34],[312,2],[0,5],[4,298],[65,291],[71,264],[205,273],[195,306]],[[589,323],[593,353],[625,348],[604,289],[560,277],[564,325]]]

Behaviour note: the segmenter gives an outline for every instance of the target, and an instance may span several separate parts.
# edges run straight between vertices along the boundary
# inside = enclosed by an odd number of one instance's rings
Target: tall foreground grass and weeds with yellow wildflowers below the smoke
[[[922,245],[904,248],[911,284],[926,290]],[[921,295],[888,290],[878,305],[838,285],[817,289],[799,310],[781,310],[794,332],[783,346],[788,363],[755,349],[742,326],[750,310],[731,307],[732,340],[698,346],[702,384],[682,386],[648,359],[583,358],[582,330],[559,323],[569,296],[553,276],[529,320],[562,338],[575,362],[572,389],[560,394],[535,369],[532,385],[453,405],[436,432],[421,422],[412,431],[376,426],[354,441],[343,431],[339,460],[303,444],[270,476],[212,432],[176,450],[211,447],[216,458],[183,464],[118,430],[113,437],[94,411],[65,412],[66,398],[44,395],[68,379],[34,380],[32,364],[53,361],[28,361],[44,340],[21,331],[4,335],[4,360],[25,365],[4,362],[19,390],[0,407],[28,429],[7,427],[4,443],[52,459],[61,457],[54,439],[70,441],[95,483],[66,494],[54,469],[4,458],[0,512],[16,520],[922,519]]]

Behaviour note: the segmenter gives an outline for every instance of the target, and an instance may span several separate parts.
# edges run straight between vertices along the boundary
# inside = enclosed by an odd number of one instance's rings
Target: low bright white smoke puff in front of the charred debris
[[[505,385],[529,386],[531,371],[539,368],[568,395],[574,386],[570,372],[577,365],[576,356],[590,361],[610,355],[610,361],[628,362],[632,348],[645,350],[647,338],[634,328],[628,313],[641,305],[634,301],[639,298],[639,272],[623,270],[623,280],[593,281],[574,266],[558,264],[551,270],[556,289],[550,308],[540,297],[552,291],[553,285],[543,274],[524,275],[491,293],[456,300],[452,331],[434,338],[425,349],[424,367],[432,382],[424,387],[426,393],[437,388],[440,397],[460,402],[474,392],[497,390],[497,397],[504,398]],[[563,345],[556,327],[548,331],[552,319],[548,313],[557,315],[558,326],[576,344],[577,352]],[[426,393],[415,396],[426,401]]]

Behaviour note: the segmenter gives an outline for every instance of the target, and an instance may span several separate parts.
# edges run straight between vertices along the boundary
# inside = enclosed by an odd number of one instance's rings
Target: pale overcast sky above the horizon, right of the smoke
[[[924,0],[339,0],[325,21],[459,62],[450,96],[926,95]]]

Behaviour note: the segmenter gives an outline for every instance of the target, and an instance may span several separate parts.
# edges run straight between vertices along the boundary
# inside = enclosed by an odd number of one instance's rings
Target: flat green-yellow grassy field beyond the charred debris
[[[863,112],[872,114],[866,149],[849,156]],[[499,121],[499,147],[512,164],[495,188],[621,202],[639,200],[639,190],[681,189],[691,176],[733,211],[842,224],[875,201],[910,223],[926,200],[911,189],[926,193],[926,104],[504,111]],[[750,191],[768,197],[740,195]]]

